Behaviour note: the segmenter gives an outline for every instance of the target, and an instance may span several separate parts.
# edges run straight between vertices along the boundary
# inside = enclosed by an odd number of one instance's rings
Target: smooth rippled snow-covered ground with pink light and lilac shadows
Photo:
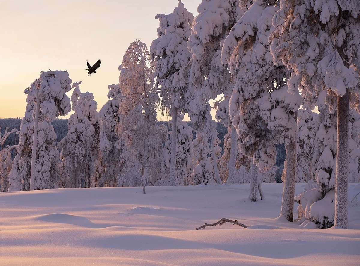
[[[360,265],[360,204],[348,230],[304,227],[276,220],[282,189],[263,184],[259,202],[249,184],[3,192],[0,265]],[[223,217],[249,228],[195,230]]]

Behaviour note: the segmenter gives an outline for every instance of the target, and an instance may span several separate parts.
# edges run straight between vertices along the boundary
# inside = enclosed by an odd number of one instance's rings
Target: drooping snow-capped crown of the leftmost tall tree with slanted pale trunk
[[[26,98],[28,105],[33,105],[32,108],[29,106],[31,109],[36,109],[35,103],[37,101],[38,90],[40,121],[52,121],[59,115],[66,115],[71,111],[70,99],[65,94],[71,90],[71,79],[67,71],[41,72],[40,78],[24,91],[28,95]],[[30,121],[32,119],[28,118],[27,120]]]

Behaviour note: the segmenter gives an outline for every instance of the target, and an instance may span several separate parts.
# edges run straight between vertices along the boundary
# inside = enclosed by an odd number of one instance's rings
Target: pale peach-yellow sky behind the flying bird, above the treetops
[[[0,118],[22,118],[24,90],[40,71],[67,70],[82,92],[93,92],[98,110],[108,85],[118,83],[118,66],[127,47],[157,38],[157,14],[169,14],[177,0],[0,0]],[[197,15],[201,0],[183,0]],[[101,59],[96,74],[90,64]],[[71,95],[71,92],[68,96]]]

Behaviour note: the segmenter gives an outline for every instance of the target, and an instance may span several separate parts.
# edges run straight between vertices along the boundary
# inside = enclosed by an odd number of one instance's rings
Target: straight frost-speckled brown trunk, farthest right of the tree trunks
[[[345,63],[345,62],[344,62]],[[345,64],[344,64],[345,65]],[[348,66],[347,66],[348,67]],[[335,224],[347,229],[348,216],[348,175],[349,175],[349,90],[337,97],[337,151],[335,185]]]

